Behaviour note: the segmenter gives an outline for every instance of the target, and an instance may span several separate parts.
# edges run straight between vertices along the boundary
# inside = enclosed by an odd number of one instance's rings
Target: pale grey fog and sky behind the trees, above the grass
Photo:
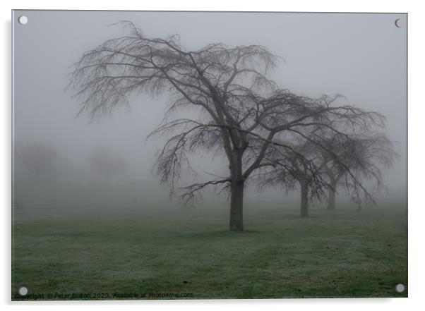
[[[20,25],[18,16],[28,16]],[[70,66],[81,54],[125,32],[131,20],[148,37],[178,33],[187,49],[212,42],[228,46],[261,44],[282,56],[271,77],[310,97],[343,94],[342,103],[385,115],[388,138],[400,158],[384,172],[388,193],[406,202],[407,190],[407,28],[395,27],[402,14],[175,13],[15,11],[13,17],[14,198],[24,206],[83,209],[179,207],[152,171],[164,139],[146,140],[162,121],[167,96],[131,97],[111,116],[90,121],[76,114],[79,103],[64,92]],[[18,154],[18,151],[22,154]],[[28,155],[34,154],[33,157]],[[25,157],[26,155],[26,157]],[[35,159],[38,159],[35,161]],[[200,180],[223,176],[227,164],[205,152],[191,159]],[[37,166],[37,169],[31,169]],[[41,167],[41,169],[40,169]],[[185,181],[194,178],[188,176]],[[204,192],[208,198],[210,191]],[[280,189],[250,186],[247,200],[277,202]],[[226,208],[226,195],[216,199]],[[213,207],[214,205],[211,205]],[[202,207],[198,205],[197,207]],[[106,208],[106,207],[105,207]],[[258,207],[260,208],[260,207]]]

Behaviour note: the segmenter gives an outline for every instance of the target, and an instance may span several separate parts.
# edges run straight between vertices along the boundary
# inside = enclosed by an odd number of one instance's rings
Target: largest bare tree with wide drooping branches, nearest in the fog
[[[133,23],[123,23],[128,35],[86,51],[73,68],[69,87],[82,104],[80,113],[108,114],[133,93],[168,93],[169,109],[152,132],[169,137],[157,158],[160,181],[173,194],[181,190],[186,201],[209,185],[229,188],[232,231],[243,230],[246,181],[253,171],[272,165],[265,161],[269,148],[291,150],[285,133],[306,139],[314,128],[333,128],[330,116],[348,126],[361,126],[366,118],[381,122],[353,106],[281,90],[266,76],[277,57],[263,46],[217,43],[189,51],[178,35],[152,39]],[[184,113],[187,118],[172,118]],[[225,154],[229,176],[176,187],[190,169],[188,157],[200,148]]]

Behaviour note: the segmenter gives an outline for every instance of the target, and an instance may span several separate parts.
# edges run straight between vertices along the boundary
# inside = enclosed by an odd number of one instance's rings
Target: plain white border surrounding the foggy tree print
[[[1,303],[6,307],[17,305],[18,308],[35,310],[57,309],[73,310],[75,307],[86,310],[90,307],[102,307],[104,310],[115,310],[123,305],[134,310],[140,308],[157,309],[173,308],[175,310],[215,310],[224,309],[257,310],[267,307],[274,310],[297,307],[301,310],[356,310],[364,307],[384,308],[385,310],[416,309],[422,303],[424,288],[424,226],[425,206],[420,193],[423,192],[424,176],[424,11],[421,1],[140,1],[140,0],[63,0],[63,1],[0,1],[2,25],[1,61],[3,73],[0,75],[3,104],[1,105],[1,198],[3,199],[3,226],[1,229],[4,243],[1,246]],[[36,302],[11,303],[11,9],[84,9],[84,10],[162,10],[162,11],[325,11],[325,12],[391,12],[409,13],[409,298],[397,299],[310,299],[310,300],[195,300],[195,301],[120,301],[120,302]]]

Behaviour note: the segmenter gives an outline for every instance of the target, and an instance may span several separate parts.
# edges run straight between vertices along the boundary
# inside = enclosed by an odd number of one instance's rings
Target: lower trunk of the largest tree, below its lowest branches
[[[230,185],[230,231],[244,231],[244,181]]]

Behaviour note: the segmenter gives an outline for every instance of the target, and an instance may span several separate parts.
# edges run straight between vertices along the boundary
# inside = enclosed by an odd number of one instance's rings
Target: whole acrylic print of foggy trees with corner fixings
[[[12,300],[407,297],[407,14],[12,24]]]

